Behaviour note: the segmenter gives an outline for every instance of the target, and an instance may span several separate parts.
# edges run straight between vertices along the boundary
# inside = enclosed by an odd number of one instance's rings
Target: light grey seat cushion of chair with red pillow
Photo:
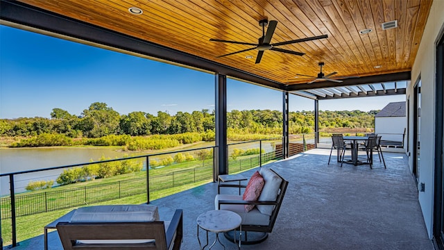
[[[242,201],[242,196],[234,194],[217,194],[214,198],[216,210],[219,209],[219,201]],[[243,225],[268,226],[270,223],[270,215],[260,213],[257,208],[253,208],[247,213],[244,205],[222,204],[221,210],[230,210],[240,215]]]

